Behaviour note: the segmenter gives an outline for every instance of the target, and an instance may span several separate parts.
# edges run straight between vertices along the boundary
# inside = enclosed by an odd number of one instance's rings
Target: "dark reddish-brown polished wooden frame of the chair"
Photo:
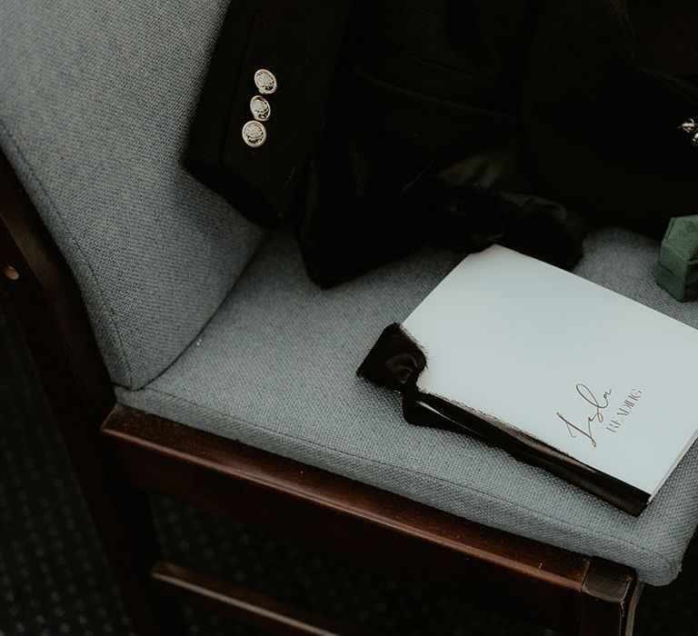
[[[458,586],[554,631],[630,634],[631,569],[115,404],[75,281],[0,154],[0,281],[25,333],[135,631],[181,633],[175,599],[279,634],[347,627],[162,560],[146,492]]]

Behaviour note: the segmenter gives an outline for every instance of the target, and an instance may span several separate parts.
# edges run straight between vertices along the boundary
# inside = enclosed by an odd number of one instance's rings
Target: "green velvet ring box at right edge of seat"
[[[698,214],[674,216],[669,222],[656,281],[678,301],[698,299]]]

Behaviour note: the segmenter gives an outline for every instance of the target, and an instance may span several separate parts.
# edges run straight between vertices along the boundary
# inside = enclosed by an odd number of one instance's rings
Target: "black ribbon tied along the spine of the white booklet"
[[[381,333],[356,373],[379,386],[402,393],[404,419],[411,424],[477,437],[521,462],[543,468],[592,492],[633,516],[638,516],[647,506],[648,493],[575,460],[513,425],[485,421],[463,406],[420,391],[417,381],[426,364],[427,357],[421,346],[400,324],[393,323]]]

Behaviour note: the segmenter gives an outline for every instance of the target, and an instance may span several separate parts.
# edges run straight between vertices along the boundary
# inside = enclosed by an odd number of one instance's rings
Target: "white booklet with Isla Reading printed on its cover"
[[[404,321],[417,386],[646,493],[698,434],[698,330],[494,245]]]

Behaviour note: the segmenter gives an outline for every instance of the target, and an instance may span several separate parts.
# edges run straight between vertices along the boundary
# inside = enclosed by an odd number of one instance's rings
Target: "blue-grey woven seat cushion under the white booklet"
[[[653,283],[657,244],[593,234],[579,273],[698,326],[698,305]],[[279,233],[199,337],[120,402],[396,492],[474,522],[676,576],[698,522],[698,446],[639,518],[467,436],[404,422],[398,396],[354,372],[459,259],[424,250],[330,291]]]

